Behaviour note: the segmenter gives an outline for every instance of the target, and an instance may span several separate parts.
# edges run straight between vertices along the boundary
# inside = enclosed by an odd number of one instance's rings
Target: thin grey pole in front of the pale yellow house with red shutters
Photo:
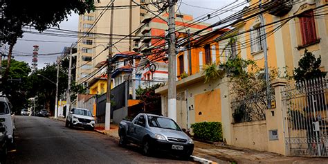
[[[262,1],[259,0],[259,8],[262,6]],[[261,42],[263,46],[263,53],[264,53],[264,74],[265,74],[265,80],[266,80],[266,101],[267,101],[267,108],[271,109],[271,92],[270,92],[270,79],[268,75],[268,48],[266,46],[266,33],[265,33],[265,28],[264,28],[264,17],[262,13],[259,15],[259,19],[261,21]]]

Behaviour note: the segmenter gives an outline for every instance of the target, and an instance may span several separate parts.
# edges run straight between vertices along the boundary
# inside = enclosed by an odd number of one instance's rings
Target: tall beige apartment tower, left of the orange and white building
[[[135,3],[134,3],[135,2]],[[113,34],[129,35],[140,25],[141,12],[136,1],[120,0],[114,2],[113,10]],[[77,74],[78,82],[91,81],[92,77],[99,76],[104,71],[97,70],[95,66],[107,60],[108,49],[104,50],[109,44],[110,22],[111,22],[110,0],[95,1],[95,11],[80,15],[78,37],[78,60]],[[131,8],[129,6],[132,6]],[[131,15],[131,17],[130,17]],[[122,37],[113,36],[113,43],[118,42]],[[129,51],[129,37],[116,43],[113,46],[113,55],[116,53]]]

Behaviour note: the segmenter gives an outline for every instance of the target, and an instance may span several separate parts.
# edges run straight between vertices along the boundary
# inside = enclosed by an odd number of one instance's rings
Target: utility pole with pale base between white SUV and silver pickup
[[[114,1],[111,0],[111,31],[113,34],[113,15],[114,15]],[[109,37],[109,51],[107,59],[107,93],[106,93],[106,111],[104,117],[104,129],[111,129],[111,55],[113,53],[113,35]]]

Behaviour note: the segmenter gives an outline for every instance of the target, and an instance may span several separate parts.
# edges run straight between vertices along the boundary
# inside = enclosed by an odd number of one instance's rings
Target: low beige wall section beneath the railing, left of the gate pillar
[[[266,121],[242,122],[233,124],[232,145],[261,151],[268,150]]]

